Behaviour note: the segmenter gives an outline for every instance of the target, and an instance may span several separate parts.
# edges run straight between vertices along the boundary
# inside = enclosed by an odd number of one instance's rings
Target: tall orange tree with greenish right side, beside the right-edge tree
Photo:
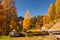
[[[50,4],[50,7],[48,9],[48,17],[49,21],[52,21],[55,19],[55,4]]]

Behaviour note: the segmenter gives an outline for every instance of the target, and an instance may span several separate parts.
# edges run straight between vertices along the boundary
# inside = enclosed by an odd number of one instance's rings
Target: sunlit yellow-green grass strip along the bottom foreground
[[[56,38],[52,35],[49,35],[49,36],[33,36],[33,37],[0,36],[0,40],[56,40]]]

